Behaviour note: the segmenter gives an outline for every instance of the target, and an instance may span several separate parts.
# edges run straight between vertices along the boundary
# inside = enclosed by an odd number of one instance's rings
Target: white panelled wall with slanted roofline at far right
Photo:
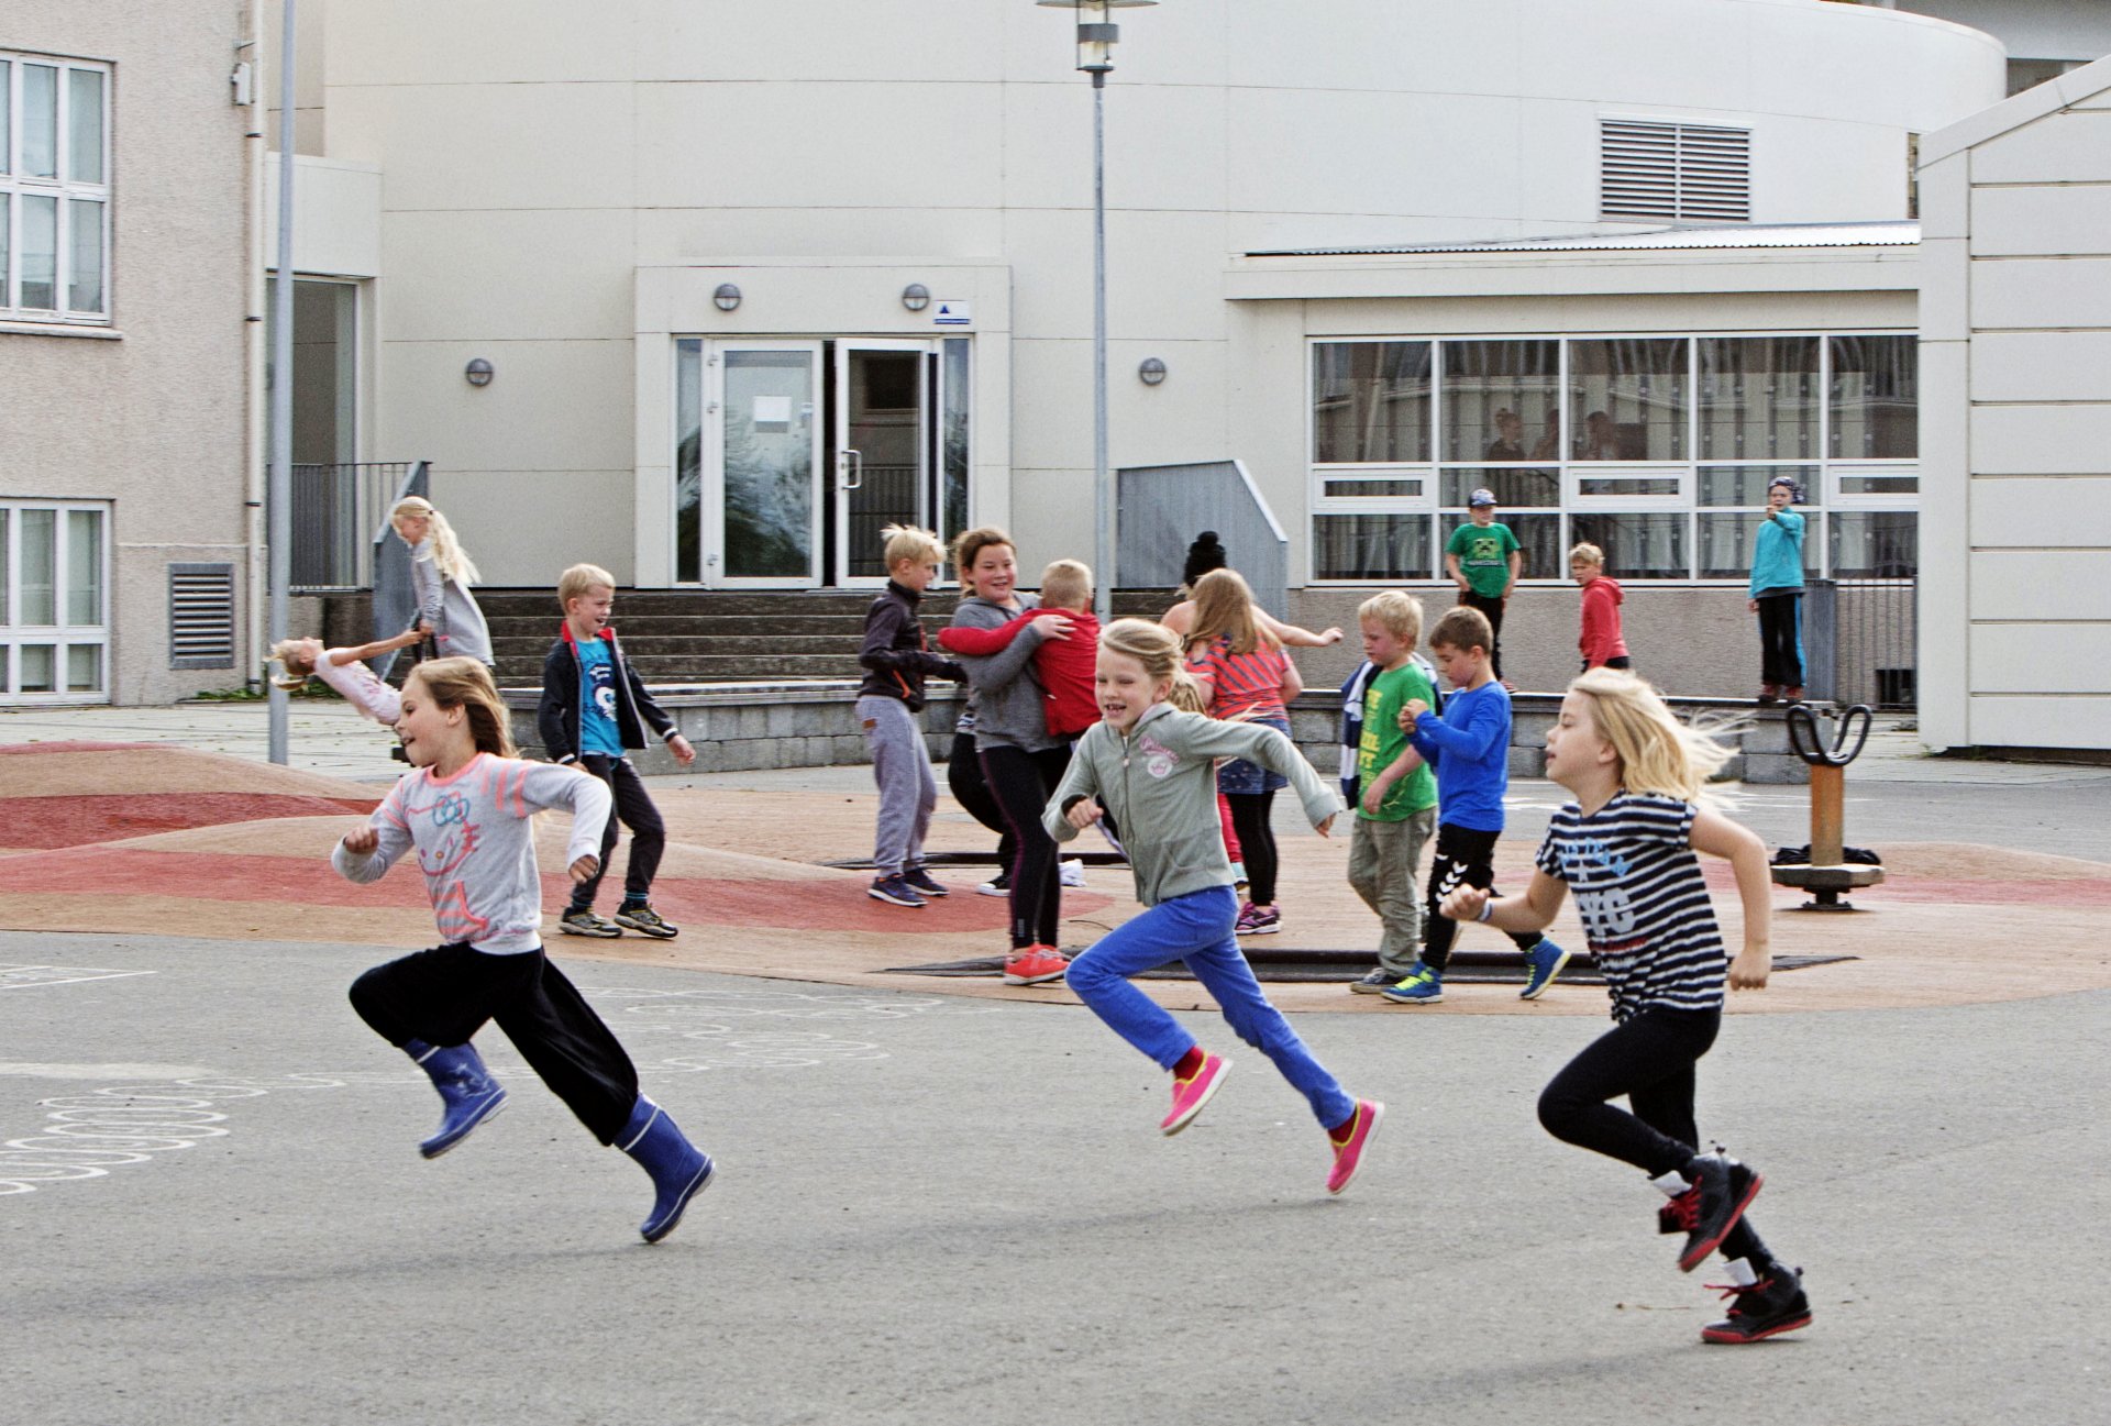
[[[1923,158],[1921,738],[2111,749],[2111,59]]]

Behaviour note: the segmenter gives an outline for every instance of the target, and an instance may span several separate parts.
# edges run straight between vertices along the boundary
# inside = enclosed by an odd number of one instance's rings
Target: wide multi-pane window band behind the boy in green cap
[[[1619,580],[1744,580],[1786,475],[1813,578],[1919,561],[1908,333],[1311,342],[1311,576],[1444,578],[1488,489],[1524,578],[1606,551]]]

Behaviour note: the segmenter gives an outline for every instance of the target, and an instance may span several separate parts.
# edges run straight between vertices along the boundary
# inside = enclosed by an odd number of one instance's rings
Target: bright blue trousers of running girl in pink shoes
[[[1313,1059],[1283,1013],[1260,994],[1260,981],[1254,979],[1231,930],[1237,920],[1239,897],[1229,886],[1172,897],[1104,934],[1070,962],[1064,981],[1093,1015],[1106,1021],[1108,1029],[1172,1070],[1195,1048],[1195,1036],[1150,996],[1129,985],[1127,977],[1169,960],[1186,962],[1237,1036],[1273,1059],[1283,1078],[1311,1103],[1319,1126],[1332,1129],[1355,1114],[1355,1099],[1326,1072],[1326,1065]]]

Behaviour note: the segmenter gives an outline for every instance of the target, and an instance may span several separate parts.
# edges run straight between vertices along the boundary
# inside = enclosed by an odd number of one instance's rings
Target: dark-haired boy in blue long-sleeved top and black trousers
[[[1503,835],[1503,793],[1509,789],[1509,690],[1488,667],[1495,633],[1488,616],[1465,605],[1450,610],[1429,633],[1429,652],[1452,683],[1438,715],[1427,702],[1408,700],[1402,726],[1412,719],[1414,751],[1438,770],[1438,850],[1429,863],[1423,958],[1406,979],[1378,991],[1397,1004],[1444,1000],[1444,968],[1459,937],[1459,922],[1440,913],[1444,897],[1461,886],[1495,888],[1495,842]],[[1524,994],[1539,1000],[1568,964],[1554,941],[1516,932],[1524,953]]]

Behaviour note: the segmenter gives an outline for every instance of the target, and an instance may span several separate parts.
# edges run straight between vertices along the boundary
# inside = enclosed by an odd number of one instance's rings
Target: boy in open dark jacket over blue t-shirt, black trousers
[[[680,764],[697,762],[697,749],[665,709],[652,702],[638,671],[623,662],[623,645],[608,627],[616,576],[600,565],[572,565],[557,576],[557,601],[564,605],[564,629],[543,660],[536,732],[551,762],[578,764],[608,783],[616,799],[602,831],[602,865],[572,888],[572,905],[557,920],[557,930],[568,937],[621,937],[635,930],[665,941],[680,934],[680,926],[652,909],[652,875],[667,850],[667,825],[627,753],[644,751],[646,724],[652,724],[652,732]],[[593,894],[608,871],[608,852],[616,848],[619,821],[631,829],[631,859],[623,873],[623,905],[614,920],[604,920],[593,911]]]

